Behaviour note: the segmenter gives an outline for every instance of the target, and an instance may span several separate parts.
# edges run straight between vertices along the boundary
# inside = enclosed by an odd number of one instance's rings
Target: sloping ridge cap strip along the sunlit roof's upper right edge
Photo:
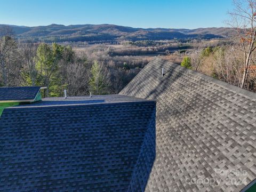
[[[163,58],[155,58],[153,60],[159,60],[159,61],[162,61],[164,63],[169,63],[170,64],[170,67],[172,67],[175,71],[179,72],[179,71],[182,71],[182,72],[185,72],[185,73],[189,73],[191,75],[194,75],[194,76],[198,76],[198,77],[201,77],[203,79],[205,79],[206,81],[210,81],[212,83],[215,83],[219,86],[222,86],[222,87],[225,87],[226,89],[230,90],[230,91],[234,91],[235,93],[241,93],[243,95],[245,95],[246,97],[251,97],[253,99],[256,99],[256,94],[254,92],[251,92],[251,91],[248,91],[248,90],[245,90],[245,89],[242,89],[241,87],[238,87],[238,86],[235,86],[235,85],[232,85],[232,84],[229,84],[227,82],[223,82],[223,81],[220,81],[219,79],[215,79],[213,77],[210,77],[210,76],[207,76],[207,75],[204,75],[202,73],[199,73],[197,71],[194,71],[194,70],[191,70],[191,69],[188,69],[188,68],[185,68],[185,67],[182,67],[180,65],[178,65],[177,63],[173,63],[171,61],[168,61],[166,59],[163,59]],[[166,73],[165,73],[166,74]]]

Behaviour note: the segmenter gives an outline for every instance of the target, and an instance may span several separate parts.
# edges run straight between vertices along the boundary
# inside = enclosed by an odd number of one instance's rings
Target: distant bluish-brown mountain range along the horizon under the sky
[[[26,27],[13,25],[13,29],[21,41],[31,39],[42,42],[79,42],[79,41],[139,41],[165,40],[185,38],[227,38],[233,33],[231,28],[197,28],[197,29],[167,29],[167,28],[133,28],[117,25],[57,25]]]

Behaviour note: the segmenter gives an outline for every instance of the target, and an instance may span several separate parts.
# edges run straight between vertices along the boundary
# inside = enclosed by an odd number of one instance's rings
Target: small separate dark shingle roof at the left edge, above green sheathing
[[[34,100],[40,88],[39,86],[0,87],[0,101]]]

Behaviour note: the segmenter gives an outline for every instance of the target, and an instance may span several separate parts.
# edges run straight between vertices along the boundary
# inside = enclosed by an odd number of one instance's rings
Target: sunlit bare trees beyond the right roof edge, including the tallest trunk
[[[256,92],[256,1],[234,0],[228,24],[234,30],[232,43],[201,48],[194,46],[181,65]]]

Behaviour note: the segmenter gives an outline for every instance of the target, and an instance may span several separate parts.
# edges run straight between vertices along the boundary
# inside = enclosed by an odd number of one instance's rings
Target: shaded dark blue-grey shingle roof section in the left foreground
[[[44,99],[0,118],[0,191],[140,191],[155,159],[155,101]]]

